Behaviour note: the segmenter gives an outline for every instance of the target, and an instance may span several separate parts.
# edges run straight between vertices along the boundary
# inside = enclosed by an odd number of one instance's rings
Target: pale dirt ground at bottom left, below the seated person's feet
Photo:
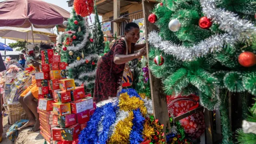
[[[13,144],[8,138],[6,138],[6,131],[10,128],[11,125],[8,125],[8,118],[5,116],[3,118],[3,140],[1,144]],[[18,138],[15,140],[14,144],[44,144],[44,138],[41,136],[40,131],[27,134],[30,128],[24,129],[19,132]]]

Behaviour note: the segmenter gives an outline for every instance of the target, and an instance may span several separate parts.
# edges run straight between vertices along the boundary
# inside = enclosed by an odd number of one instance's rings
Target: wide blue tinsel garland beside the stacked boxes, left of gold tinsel
[[[78,144],[105,144],[108,139],[109,127],[116,119],[115,107],[116,106],[113,106],[112,103],[108,103],[102,107],[96,108],[86,128],[80,133]],[[98,136],[97,128],[102,116],[104,116],[102,121],[104,128],[100,136]]]

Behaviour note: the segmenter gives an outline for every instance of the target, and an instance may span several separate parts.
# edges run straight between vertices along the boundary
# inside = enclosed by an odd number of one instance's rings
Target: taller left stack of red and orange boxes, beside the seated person
[[[38,86],[38,113],[41,134],[49,144],[53,144],[53,103],[54,93],[60,91],[58,80],[66,79],[65,62],[60,62],[60,55],[54,55],[53,50],[41,52],[42,64],[36,75]]]

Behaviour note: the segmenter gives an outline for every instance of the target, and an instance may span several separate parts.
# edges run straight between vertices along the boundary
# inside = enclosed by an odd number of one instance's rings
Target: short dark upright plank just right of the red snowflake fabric
[[[206,144],[214,144],[214,133],[212,125],[212,111],[204,110]]]

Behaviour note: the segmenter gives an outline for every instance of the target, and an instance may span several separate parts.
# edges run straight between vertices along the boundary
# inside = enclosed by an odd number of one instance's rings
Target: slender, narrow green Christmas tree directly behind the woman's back
[[[96,0],[94,3],[94,10],[95,10],[95,23],[93,24],[92,29],[92,48],[97,51],[97,54],[101,54],[104,49],[104,37],[103,32],[101,30],[101,23],[98,16],[98,10],[96,6]]]

